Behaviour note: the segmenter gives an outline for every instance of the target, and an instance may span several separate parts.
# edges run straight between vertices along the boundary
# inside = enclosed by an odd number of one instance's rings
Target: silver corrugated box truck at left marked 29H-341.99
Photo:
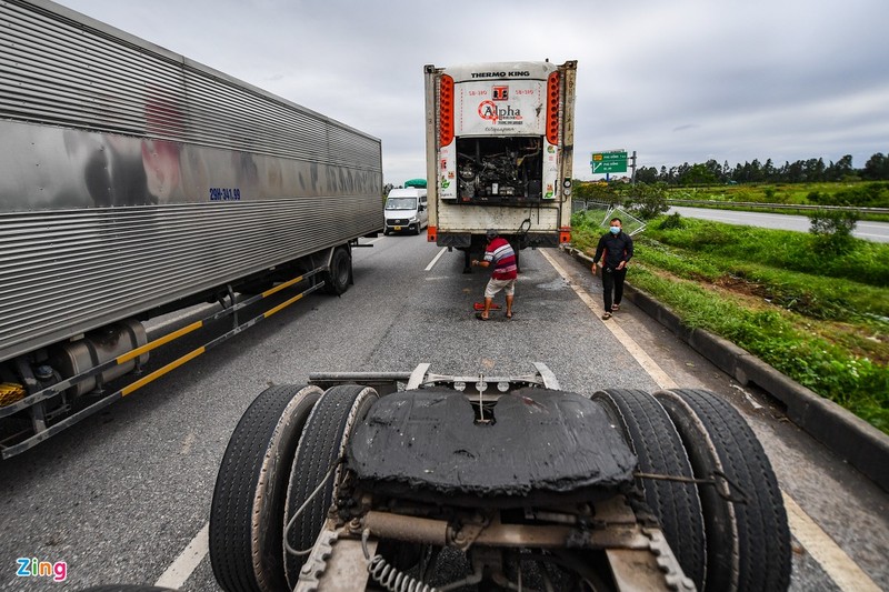
[[[348,289],[351,248],[383,229],[380,150],[53,2],[1,2],[2,456],[163,373],[104,388],[159,345],[146,319]]]

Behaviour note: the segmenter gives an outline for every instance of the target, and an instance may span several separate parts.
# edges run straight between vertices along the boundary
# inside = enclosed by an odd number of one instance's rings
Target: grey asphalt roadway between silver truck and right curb
[[[217,590],[207,556],[216,474],[236,423],[263,389],[319,371],[430,362],[438,373],[523,374],[536,361],[566,390],[672,382],[727,398],[761,439],[786,494],[792,589],[889,590],[887,493],[631,303],[601,321],[599,281],[583,265],[555,250],[522,251],[515,319],[495,313],[483,323],[472,303],[487,274],[462,274],[461,253],[424,234],[372,243],[353,251],[356,285],[341,298],[311,294],[0,463],[0,590]],[[152,333],[184,321],[167,319]],[[18,558],[64,562],[67,579],[17,576]]]

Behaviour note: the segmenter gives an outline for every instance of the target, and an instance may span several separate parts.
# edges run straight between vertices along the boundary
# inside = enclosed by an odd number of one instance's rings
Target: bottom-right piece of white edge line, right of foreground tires
[[[850,592],[879,592],[879,586],[865,573],[846,551],[833,542],[821,526],[815,523],[809,515],[795,502],[790,495],[781,492],[785,496],[785,508],[787,509],[787,521],[793,536],[800,542],[806,551],[821,564],[828,576],[840,590]]]

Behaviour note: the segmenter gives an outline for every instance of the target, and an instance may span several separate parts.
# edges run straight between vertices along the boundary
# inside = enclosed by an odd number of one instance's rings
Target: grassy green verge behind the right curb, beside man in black
[[[591,254],[599,223],[575,214],[575,245]],[[810,233],[659,218],[627,279],[889,433],[889,244],[851,241],[837,253]]]

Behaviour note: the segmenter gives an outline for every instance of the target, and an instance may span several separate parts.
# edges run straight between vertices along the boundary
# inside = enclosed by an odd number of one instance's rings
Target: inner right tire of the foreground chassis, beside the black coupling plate
[[[643,473],[693,476],[682,440],[661,404],[648,392],[609,389],[592,395],[606,408],[639,459]],[[658,518],[673,554],[698,590],[703,590],[707,541],[703,511],[692,483],[637,479],[646,502]]]

